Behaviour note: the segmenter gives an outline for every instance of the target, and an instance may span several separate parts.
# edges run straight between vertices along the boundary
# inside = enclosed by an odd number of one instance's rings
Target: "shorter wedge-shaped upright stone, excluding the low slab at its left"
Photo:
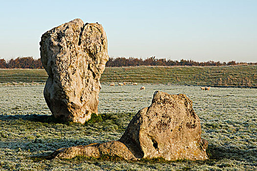
[[[200,120],[184,94],[156,91],[151,106],[133,117],[119,141],[137,158],[208,159]]]

